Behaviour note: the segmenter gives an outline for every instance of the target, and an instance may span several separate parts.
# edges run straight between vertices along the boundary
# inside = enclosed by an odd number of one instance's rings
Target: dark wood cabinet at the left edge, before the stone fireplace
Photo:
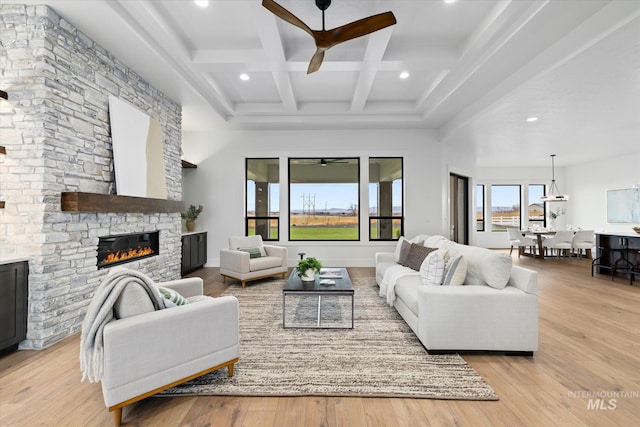
[[[0,264],[0,355],[18,349],[27,338],[29,264]]]

